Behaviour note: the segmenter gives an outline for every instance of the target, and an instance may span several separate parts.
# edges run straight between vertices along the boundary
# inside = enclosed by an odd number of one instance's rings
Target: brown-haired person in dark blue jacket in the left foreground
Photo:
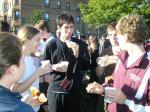
[[[9,33],[0,33],[0,111],[34,112],[28,99],[21,101],[19,93],[12,92],[11,86],[18,83],[25,69],[22,45],[19,39]],[[30,96],[30,98],[32,98]]]

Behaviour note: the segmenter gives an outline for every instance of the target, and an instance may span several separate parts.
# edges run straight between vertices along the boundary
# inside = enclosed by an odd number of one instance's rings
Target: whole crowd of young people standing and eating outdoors
[[[17,35],[1,22],[0,112],[150,112],[149,29],[129,14],[106,37],[73,37],[74,18],[62,14],[56,37],[46,20]],[[33,97],[31,87],[47,102]]]

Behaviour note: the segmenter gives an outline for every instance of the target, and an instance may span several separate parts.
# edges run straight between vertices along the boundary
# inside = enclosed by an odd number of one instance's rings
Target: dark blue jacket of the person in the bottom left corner
[[[13,93],[0,85],[0,112],[34,112],[31,106],[20,99],[19,93]]]

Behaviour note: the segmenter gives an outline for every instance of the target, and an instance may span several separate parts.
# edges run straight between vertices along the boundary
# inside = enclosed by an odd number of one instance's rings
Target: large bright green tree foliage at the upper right
[[[89,27],[99,27],[117,21],[126,14],[138,13],[150,21],[150,3],[144,0],[89,0],[80,3],[83,20]]]

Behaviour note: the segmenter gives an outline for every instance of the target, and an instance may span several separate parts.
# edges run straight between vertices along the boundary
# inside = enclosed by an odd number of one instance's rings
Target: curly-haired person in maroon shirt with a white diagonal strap
[[[117,26],[121,52],[113,73],[113,87],[91,83],[90,93],[103,94],[110,101],[109,112],[149,112],[150,58],[143,46],[148,37],[144,18],[138,14],[123,16]]]

